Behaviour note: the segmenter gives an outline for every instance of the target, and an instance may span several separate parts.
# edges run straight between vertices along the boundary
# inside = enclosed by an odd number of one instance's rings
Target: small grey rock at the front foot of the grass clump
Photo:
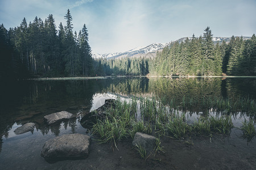
[[[137,132],[133,139],[133,146],[140,145],[145,148],[146,152],[153,151],[156,144],[156,138],[154,136]]]

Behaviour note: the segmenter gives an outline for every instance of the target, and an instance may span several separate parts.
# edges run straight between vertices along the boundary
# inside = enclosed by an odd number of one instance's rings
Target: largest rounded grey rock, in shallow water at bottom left
[[[64,134],[47,141],[41,151],[44,159],[86,158],[90,151],[90,137],[83,134]]]

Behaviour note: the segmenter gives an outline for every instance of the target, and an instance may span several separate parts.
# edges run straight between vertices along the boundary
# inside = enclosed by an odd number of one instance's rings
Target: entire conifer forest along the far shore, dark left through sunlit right
[[[0,78],[96,75],[256,75],[256,37],[232,37],[213,43],[209,27],[203,36],[171,42],[155,58],[93,59],[86,25],[73,32],[49,15],[7,30],[0,25]]]

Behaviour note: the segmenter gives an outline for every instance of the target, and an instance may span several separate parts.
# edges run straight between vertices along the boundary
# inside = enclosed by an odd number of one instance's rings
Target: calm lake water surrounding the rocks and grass
[[[195,101],[204,97],[256,99],[256,78],[106,78],[80,80],[27,80],[1,84],[0,169],[254,169],[256,140],[242,138],[239,129],[244,120],[256,113],[229,113],[234,128],[229,135],[192,137],[191,143],[163,138],[166,151],[156,160],[140,159],[131,147],[131,139],[118,143],[113,152],[108,144],[92,141],[90,155],[82,160],[48,163],[40,151],[46,141],[70,133],[90,134],[81,126],[81,117],[104,104],[105,99],[131,100],[159,96],[180,104],[184,96]],[[47,114],[68,111],[77,118],[46,125]],[[209,111],[195,105],[183,109],[189,121]],[[215,114],[214,112],[212,114]],[[14,130],[26,122],[35,122],[34,131],[16,135]],[[255,124],[254,124],[255,126]]]

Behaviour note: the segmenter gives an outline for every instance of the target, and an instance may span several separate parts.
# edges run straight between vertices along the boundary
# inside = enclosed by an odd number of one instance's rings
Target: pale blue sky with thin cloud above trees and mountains
[[[1,0],[0,24],[9,29],[52,14],[59,29],[68,9],[73,32],[86,25],[93,53],[199,37],[208,26],[213,36],[256,33],[256,0]]]

